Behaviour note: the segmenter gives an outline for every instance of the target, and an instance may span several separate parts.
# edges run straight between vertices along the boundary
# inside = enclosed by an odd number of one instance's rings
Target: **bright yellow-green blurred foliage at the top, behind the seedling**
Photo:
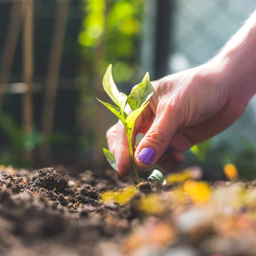
[[[79,34],[81,52],[93,60],[95,49],[104,38],[106,58],[101,73],[113,63],[117,82],[133,76],[134,59],[142,27],[144,0],[83,0],[85,18]],[[98,61],[98,60],[97,60]]]

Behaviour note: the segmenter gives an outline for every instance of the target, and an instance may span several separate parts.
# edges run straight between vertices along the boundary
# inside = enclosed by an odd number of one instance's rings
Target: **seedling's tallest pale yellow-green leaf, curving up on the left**
[[[125,93],[120,93],[116,87],[116,84],[112,76],[112,65],[108,66],[108,69],[103,77],[103,88],[112,101],[120,108],[121,111],[125,109],[127,95]]]

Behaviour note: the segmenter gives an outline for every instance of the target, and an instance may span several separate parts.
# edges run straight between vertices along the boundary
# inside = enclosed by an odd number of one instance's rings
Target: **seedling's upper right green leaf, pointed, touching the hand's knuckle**
[[[145,105],[148,99],[153,95],[154,89],[150,82],[149,73],[147,72],[140,84],[127,97],[127,102],[134,111]]]

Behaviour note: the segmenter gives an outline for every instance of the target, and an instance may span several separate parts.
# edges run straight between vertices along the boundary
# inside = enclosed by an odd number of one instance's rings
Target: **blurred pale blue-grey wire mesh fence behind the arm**
[[[170,73],[195,67],[212,58],[256,8],[254,0],[178,0],[175,3]],[[226,147],[229,156],[253,152],[256,149],[255,130],[256,97],[234,125],[214,138],[213,147],[216,150]],[[217,154],[210,157],[215,158]],[[253,153],[250,157],[256,158]],[[250,157],[244,161],[255,164]]]

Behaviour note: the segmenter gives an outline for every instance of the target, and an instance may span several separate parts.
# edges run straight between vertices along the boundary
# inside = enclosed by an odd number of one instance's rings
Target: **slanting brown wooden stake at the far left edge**
[[[20,25],[24,9],[23,7],[24,4],[22,2],[12,3],[12,10],[9,19],[6,40],[3,47],[3,66],[0,71],[0,84],[3,84],[3,86],[6,86],[10,77],[10,70],[15,55],[18,37],[20,34]],[[0,93],[0,108],[3,105],[5,90],[6,88],[4,87],[3,92]]]

